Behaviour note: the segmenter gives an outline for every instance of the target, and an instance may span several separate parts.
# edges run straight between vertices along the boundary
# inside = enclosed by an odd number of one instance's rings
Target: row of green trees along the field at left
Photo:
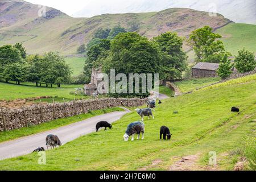
[[[28,81],[36,86],[56,84],[60,87],[71,81],[71,73],[63,57],[56,53],[27,56],[26,49],[20,43],[0,47],[0,78],[6,82],[20,84]]]

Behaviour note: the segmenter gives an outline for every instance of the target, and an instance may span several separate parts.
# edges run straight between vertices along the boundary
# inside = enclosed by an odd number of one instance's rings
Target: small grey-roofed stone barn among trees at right
[[[219,64],[217,63],[197,63],[192,67],[193,78],[204,78],[204,77],[217,77],[217,69]]]

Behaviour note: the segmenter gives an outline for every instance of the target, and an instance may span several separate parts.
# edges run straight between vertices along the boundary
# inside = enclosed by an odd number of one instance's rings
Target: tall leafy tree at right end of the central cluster
[[[183,39],[176,32],[166,32],[154,38],[163,51],[163,72],[166,80],[181,78],[187,69],[187,55],[182,50]]]

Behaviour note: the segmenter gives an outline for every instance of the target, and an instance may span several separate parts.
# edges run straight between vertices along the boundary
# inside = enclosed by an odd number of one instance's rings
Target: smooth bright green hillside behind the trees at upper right
[[[237,50],[243,47],[256,53],[256,25],[230,23],[216,32],[222,35],[221,40],[233,55],[237,55]]]

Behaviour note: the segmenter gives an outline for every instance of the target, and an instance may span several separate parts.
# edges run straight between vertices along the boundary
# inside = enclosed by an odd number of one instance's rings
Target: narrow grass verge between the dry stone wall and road
[[[69,118],[56,119],[51,122],[42,123],[40,125],[23,127],[21,129],[16,129],[11,131],[3,131],[3,132],[0,132],[0,142],[5,142],[7,140],[12,140],[19,137],[26,137],[29,135],[34,135],[36,133],[43,132],[43,131],[56,129],[57,127],[66,126],[71,123],[79,122],[84,119],[94,117],[96,115],[111,113],[113,111],[123,111],[123,109],[120,107],[113,107],[109,109],[94,110],[94,111],[90,111],[90,113],[75,115]]]

